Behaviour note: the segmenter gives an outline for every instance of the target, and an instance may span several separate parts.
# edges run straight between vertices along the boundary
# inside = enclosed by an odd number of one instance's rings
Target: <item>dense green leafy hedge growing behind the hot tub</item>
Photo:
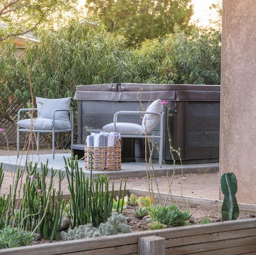
[[[73,96],[81,84],[220,84],[218,31],[166,35],[140,48],[125,48],[124,38],[86,23],[38,36],[41,43],[29,45],[24,57],[9,42],[1,46],[2,117],[11,103],[30,101],[28,73],[34,96],[49,98]]]

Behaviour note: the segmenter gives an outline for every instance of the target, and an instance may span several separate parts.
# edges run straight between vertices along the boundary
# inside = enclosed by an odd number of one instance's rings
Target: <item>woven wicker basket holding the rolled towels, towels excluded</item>
[[[117,141],[113,147],[91,147],[85,145],[85,170],[117,171],[121,170],[121,142]]]

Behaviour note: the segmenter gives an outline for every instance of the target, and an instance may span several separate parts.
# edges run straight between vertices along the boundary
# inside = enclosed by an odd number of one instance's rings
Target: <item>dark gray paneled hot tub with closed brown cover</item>
[[[79,85],[74,99],[78,100],[78,144],[84,144],[90,130],[101,129],[113,122],[115,112],[141,111],[158,98],[164,105],[163,159],[171,161],[167,128],[172,146],[180,149],[186,163],[219,161],[219,85],[160,85],[160,84],[98,84]],[[167,114],[169,117],[167,118]],[[141,119],[119,117],[118,121],[141,124]],[[135,139],[135,158],[145,159],[144,139]],[[132,142],[132,141],[130,141]],[[129,150],[131,148],[131,151]],[[123,144],[126,161],[132,161],[132,144]],[[129,155],[130,153],[130,155]],[[154,152],[153,158],[158,158]],[[177,155],[175,159],[177,159]]]

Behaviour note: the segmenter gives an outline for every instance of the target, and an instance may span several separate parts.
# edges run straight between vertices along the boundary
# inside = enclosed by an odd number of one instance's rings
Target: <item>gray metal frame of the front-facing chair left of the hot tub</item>
[[[28,112],[28,111],[37,111],[37,108],[23,108],[18,111],[18,121],[20,120],[20,113],[22,111]],[[54,120],[55,120],[55,112],[60,112],[60,111],[67,111],[69,112],[69,121],[70,121],[70,128],[68,129],[55,129],[54,128]],[[31,128],[20,128],[18,126],[17,128],[17,157],[19,158],[20,155],[20,132],[35,132],[37,133],[37,146],[36,146],[36,154],[39,154],[39,133],[52,133],[52,158],[54,159],[54,146],[55,146],[55,133],[61,133],[61,132],[71,132],[71,145],[74,142],[74,112],[71,109],[56,109],[52,113],[52,122],[53,122],[53,127],[50,130],[40,130],[40,129],[34,129],[33,126],[31,125]]]

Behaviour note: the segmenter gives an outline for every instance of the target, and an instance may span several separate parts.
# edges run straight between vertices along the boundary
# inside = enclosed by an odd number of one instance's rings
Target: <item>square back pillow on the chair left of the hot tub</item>
[[[69,109],[70,100],[71,100],[71,97],[57,98],[57,99],[36,97],[37,117],[52,119],[52,113],[54,110]],[[54,114],[54,119],[69,122],[68,111],[56,112]]]

